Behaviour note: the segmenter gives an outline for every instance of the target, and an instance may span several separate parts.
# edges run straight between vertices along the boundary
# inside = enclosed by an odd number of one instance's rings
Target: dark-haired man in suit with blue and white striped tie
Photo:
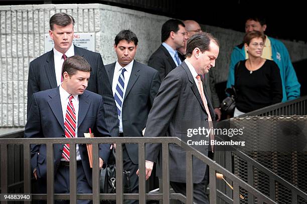
[[[142,129],[160,86],[159,72],[133,59],[137,42],[132,31],[120,31],[114,43],[117,60],[105,66],[117,106],[119,136],[143,136]],[[137,144],[124,144],[123,168],[130,171],[130,193],[138,193]],[[138,201],[125,200],[124,203]]]

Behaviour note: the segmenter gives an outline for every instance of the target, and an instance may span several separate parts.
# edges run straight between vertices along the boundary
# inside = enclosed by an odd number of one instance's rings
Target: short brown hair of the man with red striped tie
[[[91,72],[91,65],[82,57],[78,55],[67,57],[62,66],[62,76],[66,71],[68,75],[72,76],[76,74],[77,71]]]

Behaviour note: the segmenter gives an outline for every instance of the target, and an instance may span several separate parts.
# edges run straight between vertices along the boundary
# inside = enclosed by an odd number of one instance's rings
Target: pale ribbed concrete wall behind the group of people
[[[95,49],[104,64],[114,62],[115,35],[131,29],[139,39],[136,60],[146,63],[161,43],[161,26],[166,16],[103,4],[42,4],[0,6],[0,126],[24,126],[27,108],[29,62],[44,53],[44,34],[49,18],[56,12],[67,12],[75,20],[75,32],[94,32]],[[221,42],[216,68],[217,82],[227,80],[229,56],[241,42],[244,33],[202,25]],[[307,45],[285,41],[292,61],[306,58]]]

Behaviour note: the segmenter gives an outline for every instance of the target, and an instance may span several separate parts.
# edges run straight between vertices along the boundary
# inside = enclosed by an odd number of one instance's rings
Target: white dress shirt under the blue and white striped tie
[[[133,61],[134,59],[132,59],[132,61],[130,63],[128,63],[127,65],[125,65],[124,67],[122,67],[119,63],[118,63],[118,60],[116,60],[116,63],[115,63],[115,68],[114,68],[114,74],[113,74],[113,81],[112,81],[112,91],[113,91],[113,96],[115,94],[115,89],[116,89],[116,85],[117,85],[117,82],[118,82],[118,77],[121,73],[121,70],[122,68],[125,68],[126,71],[124,72],[124,78],[125,78],[125,81],[124,81],[124,91],[123,91],[123,96],[122,98],[125,97],[125,92],[126,92],[126,88],[127,88],[127,85],[128,85],[128,81],[129,81],[129,78],[130,78],[130,75],[131,75],[131,70],[132,70],[132,66],[133,66]],[[123,101],[122,101],[122,104],[121,106],[123,105]],[[119,132],[123,132],[123,129],[122,129],[122,121],[121,121],[121,115],[122,115],[122,111],[120,112],[120,117],[119,117]]]

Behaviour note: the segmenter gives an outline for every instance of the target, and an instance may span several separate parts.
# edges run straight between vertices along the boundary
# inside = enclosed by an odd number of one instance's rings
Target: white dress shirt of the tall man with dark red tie
[[[71,44],[67,52],[65,52],[67,57],[75,55],[74,45]],[[57,79],[57,86],[61,84],[61,75],[62,75],[62,65],[64,62],[64,58],[62,58],[63,53],[59,52],[53,47],[53,58],[54,58],[54,68]]]

